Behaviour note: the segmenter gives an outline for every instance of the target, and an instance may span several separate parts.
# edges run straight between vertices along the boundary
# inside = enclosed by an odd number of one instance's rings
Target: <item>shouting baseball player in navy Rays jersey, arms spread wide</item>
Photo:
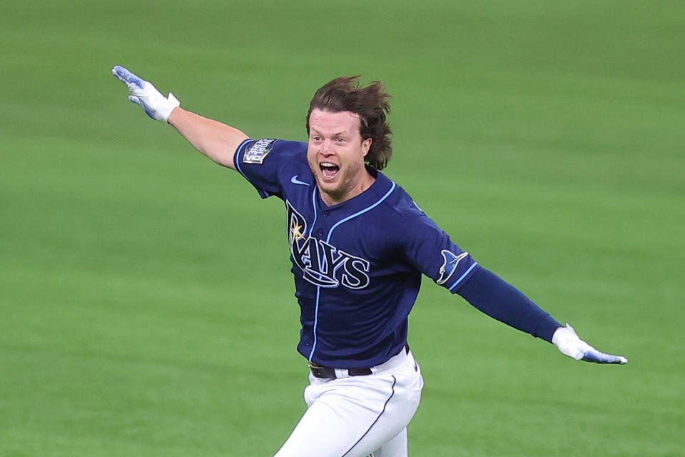
[[[407,316],[422,274],[493,318],[554,343],[576,360],[627,363],[597,351],[523,293],[480,266],[395,182],[380,81],[338,78],[310,102],[308,141],[251,139],[181,109],[121,66],[128,99],[171,124],[217,164],[235,169],[262,198],[285,203],[298,351],[309,363],[306,412],[276,457],[404,457],[407,424],[423,387],[407,344]]]

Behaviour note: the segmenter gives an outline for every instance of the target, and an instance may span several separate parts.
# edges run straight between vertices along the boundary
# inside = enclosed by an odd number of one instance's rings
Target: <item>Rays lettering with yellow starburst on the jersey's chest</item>
[[[285,205],[288,207],[290,256],[306,281],[328,288],[345,286],[360,289],[369,285],[369,261],[311,236],[305,218],[290,201],[285,201]]]

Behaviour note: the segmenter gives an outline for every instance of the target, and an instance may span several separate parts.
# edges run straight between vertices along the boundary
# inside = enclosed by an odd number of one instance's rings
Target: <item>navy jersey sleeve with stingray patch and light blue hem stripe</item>
[[[480,268],[470,253],[452,242],[432,219],[423,213],[408,218],[400,236],[400,250],[407,261],[439,286],[457,293]]]

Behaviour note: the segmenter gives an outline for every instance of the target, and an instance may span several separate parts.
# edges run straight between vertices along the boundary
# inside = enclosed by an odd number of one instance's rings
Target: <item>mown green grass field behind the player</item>
[[[681,1],[0,5],[0,456],[271,456],[304,411],[283,205],[126,100],[253,137],[382,79],[387,174],[627,366],[425,281],[410,455],[683,456]]]

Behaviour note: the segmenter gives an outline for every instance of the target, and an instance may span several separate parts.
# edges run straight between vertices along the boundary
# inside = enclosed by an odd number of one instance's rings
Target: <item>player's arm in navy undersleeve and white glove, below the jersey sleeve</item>
[[[553,343],[566,356],[594,363],[628,363],[623,356],[597,351],[568,323],[562,326],[517,288],[485,268],[475,271],[457,293],[488,316]]]

